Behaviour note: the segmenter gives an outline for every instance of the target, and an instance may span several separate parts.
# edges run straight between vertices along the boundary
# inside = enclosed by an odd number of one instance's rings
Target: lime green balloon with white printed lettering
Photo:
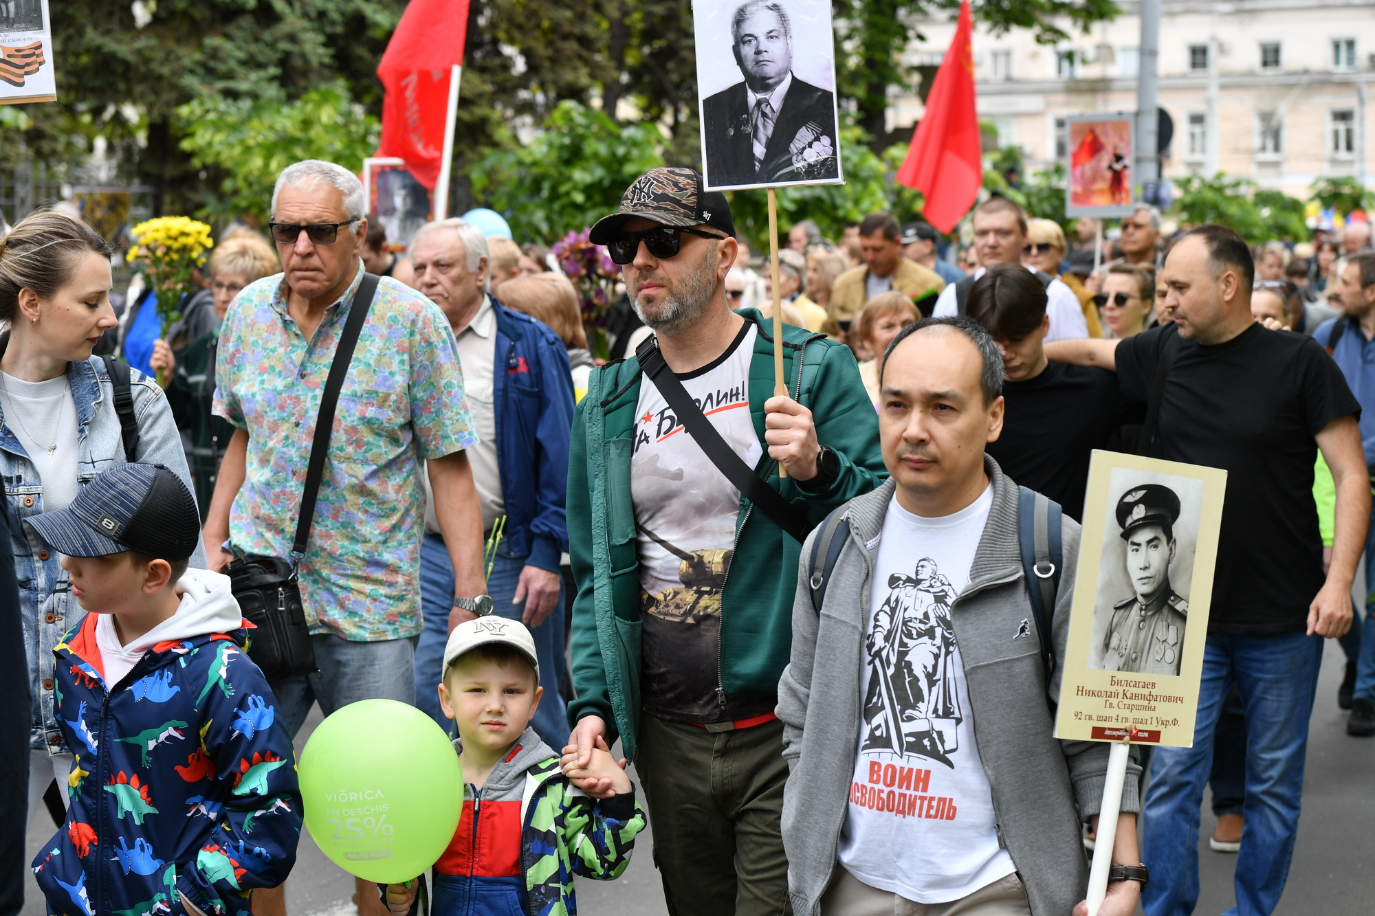
[[[364,880],[399,884],[424,875],[458,829],[458,754],[412,706],[345,706],[315,729],[297,769],[311,839]]]

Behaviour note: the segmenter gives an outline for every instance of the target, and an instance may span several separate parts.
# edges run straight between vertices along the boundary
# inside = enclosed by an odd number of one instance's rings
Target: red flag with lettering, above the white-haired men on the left
[[[386,88],[377,155],[396,155],[434,190],[444,153],[452,67],[463,63],[469,0],[411,0],[377,76]]]

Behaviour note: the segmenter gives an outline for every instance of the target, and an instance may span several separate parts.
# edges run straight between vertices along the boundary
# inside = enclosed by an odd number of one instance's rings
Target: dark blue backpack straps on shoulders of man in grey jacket
[[[842,517],[844,506],[833,510],[817,530],[811,542],[811,557],[807,561],[807,586],[811,590],[811,607],[821,613],[826,597],[826,583],[836,568],[836,560],[846,541],[850,539],[850,520]],[[1045,682],[1055,674],[1055,649],[1050,642],[1050,618],[1055,615],[1055,597],[1060,590],[1060,572],[1064,565],[1064,552],[1060,545],[1060,503],[1028,490],[1018,487],[1018,546],[1022,553],[1022,569],[1027,580],[1027,597],[1031,600],[1031,615],[1035,618],[1035,631],[1041,641],[1041,664]],[[818,560],[825,556],[825,563]],[[1055,701],[1046,696],[1050,714],[1055,715]]]

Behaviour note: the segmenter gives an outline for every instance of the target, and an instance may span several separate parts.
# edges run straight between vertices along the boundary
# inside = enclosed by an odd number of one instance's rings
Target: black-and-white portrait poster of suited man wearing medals
[[[830,0],[696,0],[708,190],[843,184]]]

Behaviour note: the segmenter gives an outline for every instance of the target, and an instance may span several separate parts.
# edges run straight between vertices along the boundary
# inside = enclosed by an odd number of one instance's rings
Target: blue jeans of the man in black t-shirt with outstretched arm
[[[1224,916],[1268,916],[1294,858],[1308,721],[1323,637],[1209,635],[1194,747],[1160,747],[1145,792],[1147,916],[1189,916],[1199,898],[1199,806],[1218,715],[1236,684],[1246,707],[1246,802],[1236,858],[1236,906]]]

